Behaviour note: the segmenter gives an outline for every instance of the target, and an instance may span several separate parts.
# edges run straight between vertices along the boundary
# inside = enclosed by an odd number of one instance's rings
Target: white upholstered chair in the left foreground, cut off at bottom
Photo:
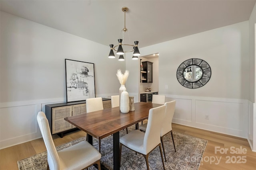
[[[48,119],[40,111],[37,121],[47,150],[47,169],[50,170],[78,170],[98,164],[100,170],[101,154],[87,141],[82,141],[66,149],[57,151],[52,140]]]

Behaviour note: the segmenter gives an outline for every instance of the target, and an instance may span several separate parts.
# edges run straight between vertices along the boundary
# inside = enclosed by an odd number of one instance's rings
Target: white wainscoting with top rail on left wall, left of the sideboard
[[[46,104],[63,102],[62,98],[0,104],[0,149],[42,137],[36,120]]]

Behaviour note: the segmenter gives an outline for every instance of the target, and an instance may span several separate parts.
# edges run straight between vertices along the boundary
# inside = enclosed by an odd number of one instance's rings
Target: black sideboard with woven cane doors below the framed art
[[[102,98],[103,108],[111,108],[111,99]],[[63,137],[64,133],[77,130],[74,125],[64,120],[65,117],[86,113],[86,101],[45,105],[45,114],[49,121],[52,135]]]

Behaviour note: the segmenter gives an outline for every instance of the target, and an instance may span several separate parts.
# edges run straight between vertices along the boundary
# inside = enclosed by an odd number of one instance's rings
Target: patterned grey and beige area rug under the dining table
[[[128,131],[134,130],[129,127]],[[120,137],[126,134],[126,131],[120,131]],[[207,140],[193,137],[183,133],[173,132],[176,152],[172,143],[170,133],[164,136],[164,146],[166,152],[166,162],[164,162],[166,170],[198,170]],[[57,151],[85,140],[85,137],[76,139],[69,143],[56,147]],[[98,140],[93,138],[93,146],[98,149]],[[101,163],[106,167],[103,170],[113,169],[113,138],[106,137],[101,140]],[[150,170],[162,170],[162,159],[159,147],[154,149],[148,156]],[[47,169],[47,152],[41,152],[29,158],[19,160],[17,162],[19,170],[46,170]],[[90,167],[90,170],[96,170]],[[122,147],[122,158],[120,170],[143,170],[146,169],[145,158],[141,154]]]

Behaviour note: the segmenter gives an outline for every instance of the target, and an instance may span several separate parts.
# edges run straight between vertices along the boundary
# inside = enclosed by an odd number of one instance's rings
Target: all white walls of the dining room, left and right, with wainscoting
[[[126,88],[129,95],[138,95],[139,61],[108,59],[107,46],[4,12],[0,17],[0,148],[41,137],[37,112],[66,100],[64,59],[95,64],[96,96],[118,94],[118,68],[130,71]],[[142,55],[159,53],[159,93],[177,100],[174,122],[247,138],[248,25],[245,21],[140,49]],[[185,88],[176,78],[178,66],[190,58],[212,68],[210,81],[198,89]]]

